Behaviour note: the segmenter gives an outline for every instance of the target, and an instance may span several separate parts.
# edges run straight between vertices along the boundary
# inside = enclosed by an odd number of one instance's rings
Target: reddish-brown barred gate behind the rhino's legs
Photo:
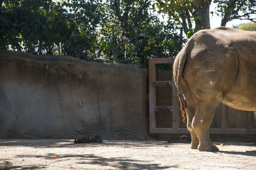
[[[157,58],[149,60],[149,130],[150,133],[164,133],[164,134],[186,134],[189,131],[180,127],[180,107],[177,97],[177,89],[172,81],[159,81],[157,80],[156,65],[157,64],[170,64],[173,65],[171,58]],[[171,71],[172,72],[172,71]],[[158,106],[157,105],[157,87],[170,87],[172,88],[172,105],[170,106]],[[168,94],[167,94],[168,95]],[[242,129],[227,128],[227,108],[224,104],[221,104],[221,127],[211,128],[211,134],[256,134],[256,129],[253,128],[255,118],[252,111],[246,112],[247,127]],[[172,127],[157,127],[157,112],[159,111],[171,111],[172,118],[170,118],[170,125]]]

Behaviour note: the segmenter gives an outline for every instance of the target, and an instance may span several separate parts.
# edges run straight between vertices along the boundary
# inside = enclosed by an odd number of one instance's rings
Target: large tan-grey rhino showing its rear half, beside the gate
[[[256,32],[227,27],[196,32],[175,58],[173,76],[187,104],[191,148],[218,151],[209,138],[218,104],[256,110]]]

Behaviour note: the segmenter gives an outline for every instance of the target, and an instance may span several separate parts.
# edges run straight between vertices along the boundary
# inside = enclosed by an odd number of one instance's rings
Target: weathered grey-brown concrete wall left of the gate
[[[0,138],[148,137],[147,70],[0,50]]]

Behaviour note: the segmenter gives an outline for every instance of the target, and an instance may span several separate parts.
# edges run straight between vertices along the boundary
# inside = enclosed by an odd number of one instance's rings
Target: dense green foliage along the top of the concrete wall
[[[182,45],[177,27],[161,22],[152,1],[3,0],[0,48],[148,66]]]

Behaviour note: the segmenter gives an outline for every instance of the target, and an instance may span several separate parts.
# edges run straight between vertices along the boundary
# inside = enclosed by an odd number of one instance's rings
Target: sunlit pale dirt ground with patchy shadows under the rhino
[[[2,139],[0,169],[256,169],[256,143],[216,144],[220,152],[165,141]]]

